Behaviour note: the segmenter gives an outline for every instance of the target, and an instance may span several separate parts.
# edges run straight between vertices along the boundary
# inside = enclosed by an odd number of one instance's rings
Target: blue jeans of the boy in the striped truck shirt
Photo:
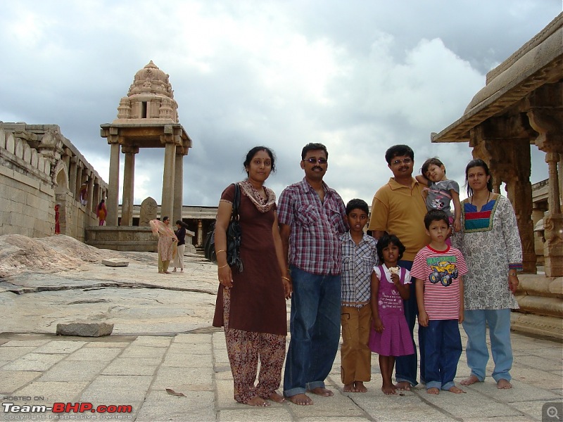
[[[438,319],[428,321],[427,327],[419,327],[424,331],[426,390],[450,390],[455,385],[453,378],[462,355],[462,338],[457,325],[457,319]]]

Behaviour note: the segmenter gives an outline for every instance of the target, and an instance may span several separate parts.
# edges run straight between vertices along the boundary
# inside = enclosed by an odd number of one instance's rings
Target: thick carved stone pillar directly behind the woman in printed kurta
[[[473,155],[489,166],[493,191],[500,193],[501,182],[506,184],[522,243],[522,265],[529,274],[536,274],[530,183],[533,133],[521,116],[493,118],[471,132]]]

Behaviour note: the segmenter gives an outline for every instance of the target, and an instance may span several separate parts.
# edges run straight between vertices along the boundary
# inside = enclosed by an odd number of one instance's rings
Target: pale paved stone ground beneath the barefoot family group
[[[1,420],[78,418],[131,421],[561,421],[559,342],[512,335],[512,390],[489,377],[465,394],[415,388],[385,396],[377,357],[367,393],[341,390],[339,357],[327,380],[334,397],[299,407],[234,402],[224,335],[210,327],[216,269],[186,257],[184,274],[156,274],[156,257],[128,255],[129,267],[87,264],[60,272],[23,271],[0,279]],[[54,335],[77,320],[115,324],[103,338]],[[465,343],[464,333],[462,338]],[[488,367],[489,372],[492,366]],[[465,354],[458,366],[467,376]],[[23,397],[23,399],[20,399]],[[28,397],[28,398],[26,398]],[[130,405],[131,413],[25,414],[16,405],[55,402]],[[546,413],[551,408],[550,415]],[[557,414],[555,414],[557,411]]]

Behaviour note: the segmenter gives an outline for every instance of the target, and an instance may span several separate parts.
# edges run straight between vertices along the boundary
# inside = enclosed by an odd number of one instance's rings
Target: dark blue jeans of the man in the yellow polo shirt
[[[412,261],[399,261],[399,267],[405,269],[412,268]],[[395,358],[395,379],[398,383],[401,381],[408,381],[411,385],[417,385],[417,344],[415,343],[415,322],[418,316],[417,305],[417,290],[415,288],[415,281],[412,280],[410,284],[410,298],[403,300],[403,307],[405,308],[405,318],[409,326],[410,337],[412,338],[412,345],[415,348],[414,354],[407,354],[406,356],[398,356]],[[419,327],[418,343],[420,346],[420,382],[424,383],[424,330]]]

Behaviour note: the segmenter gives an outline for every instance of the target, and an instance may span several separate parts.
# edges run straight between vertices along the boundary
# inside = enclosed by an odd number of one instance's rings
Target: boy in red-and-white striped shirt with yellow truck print
[[[424,217],[430,244],[419,250],[410,274],[416,279],[419,324],[425,331],[426,392],[463,392],[454,383],[462,354],[458,324],[463,321],[463,281],[467,273],[462,252],[445,243],[448,215],[431,210]]]

